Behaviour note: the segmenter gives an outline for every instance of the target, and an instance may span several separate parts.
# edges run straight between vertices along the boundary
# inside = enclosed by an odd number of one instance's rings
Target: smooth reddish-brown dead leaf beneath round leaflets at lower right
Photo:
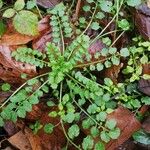
[[[140,122],[135,118],[134,114],[121,106],[111,113],[108,119],[115,119],[117,121],[117,126],[121,129],[121,135],[117,140],[112,140],[106,145],[107,150],[117,148],[141,127]]]

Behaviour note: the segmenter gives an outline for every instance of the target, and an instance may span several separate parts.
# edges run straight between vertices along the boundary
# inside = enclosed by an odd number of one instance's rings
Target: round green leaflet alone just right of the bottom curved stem
[[[80,133],[80,128],[77,124],[72,125],[69,129],[68,129],[68,136],[71,139],[74,139],[75,137],[77,137]]]

